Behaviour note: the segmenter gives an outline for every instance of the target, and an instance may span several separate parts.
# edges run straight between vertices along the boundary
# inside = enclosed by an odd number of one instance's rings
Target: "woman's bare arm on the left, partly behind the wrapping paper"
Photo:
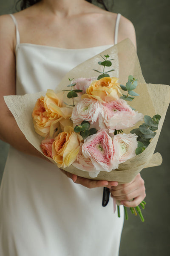
[[[26,140],[3,99],[4,95],[16,94],[15,34],[11,17],[0,16],[0,139],[26,154],[44,158]]]

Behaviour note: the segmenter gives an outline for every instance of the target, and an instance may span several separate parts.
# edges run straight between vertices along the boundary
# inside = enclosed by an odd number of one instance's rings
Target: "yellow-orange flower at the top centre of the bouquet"
[[[116,77],[104,77],[91,83],[86,90],[83,98],[99,100],[100,102],[109,102],[119,99],[122,96],[120,85]]]

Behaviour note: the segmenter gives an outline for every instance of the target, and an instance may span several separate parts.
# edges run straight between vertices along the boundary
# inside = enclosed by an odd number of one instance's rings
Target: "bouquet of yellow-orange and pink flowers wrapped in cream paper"
[[[105,56],[103,61],[101,55]],[[91,179],[128,183],[143,168],[161,164],[160,154],[153,153],[169,104],[170,89],[167,85],[145,83],[129,39],[101,55],[68,72],[60,83],[61,89],[55,93],[48,90],[46,94],[5,96],[5,101],[27,140],[60,168]],[[109,55],[116,57],[113,65],[119,71],[119,83],[117,77],[108,75],[114,70],[108,73],[93,70],[97,62],[101,67],[111,66],[111,60],[106,59]],[[98,79],[94,79],[96,71],[100,73]],[[69,79],[71,90],[64,93],[69,77],[76,79]],[[127,94],[122,94],[123,91]],[[138,94],[139,98],[132,101]],[[130,106],[126,100],[132,101]],[[141,205],[144,207],[144,202]]]

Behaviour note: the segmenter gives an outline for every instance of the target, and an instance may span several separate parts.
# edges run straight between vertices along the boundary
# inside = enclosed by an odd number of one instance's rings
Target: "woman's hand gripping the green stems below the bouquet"
[[[144,180],[140,173],[130,182],[110,188],[111,197],[126,207],[136,207],[145,198]]]

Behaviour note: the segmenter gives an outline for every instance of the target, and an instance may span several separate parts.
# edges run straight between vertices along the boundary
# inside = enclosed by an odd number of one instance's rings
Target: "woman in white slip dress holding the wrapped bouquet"
[[[54,89],[71,68],[116,43],[118,22],[118,42],[129,37],[136,46],[135,31],[125,17],[85,0],[37,2],[0,17],[0,139],[11,145],[0,191],[0,255],[116,256],[123,213],[117,218],[111,203],[101,207],[102,187],[135,207],[145,197],[140,175],[118,185],[61,172],[28,143],[3,95]]]

